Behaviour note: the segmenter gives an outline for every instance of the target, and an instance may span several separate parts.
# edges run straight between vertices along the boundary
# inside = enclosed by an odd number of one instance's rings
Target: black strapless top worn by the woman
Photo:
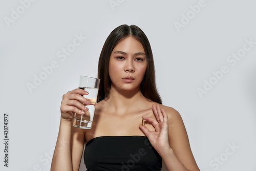
[[[86,144],[84,164],[88,171],[156,171],[162,158],[145,136],[102,136]]]

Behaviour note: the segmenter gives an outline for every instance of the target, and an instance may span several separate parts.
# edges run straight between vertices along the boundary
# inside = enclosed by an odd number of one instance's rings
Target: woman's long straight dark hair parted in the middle
[[[135,25],[121,25],[113,30],[108,38],[106,38],[98,63],[98,78],[100,78],[100,84],[97,102],[108,98],[109,96],[111,88],[111,79],[109,76],[110,56],[115,46],[128,36],[132,36],[142,44],[146,55],[147,68],[144,78],[140,83],[140,91],[144,97],[162,104],[161,97],[156,88],[155,66],[150,42],[148,41],[145,33]]]

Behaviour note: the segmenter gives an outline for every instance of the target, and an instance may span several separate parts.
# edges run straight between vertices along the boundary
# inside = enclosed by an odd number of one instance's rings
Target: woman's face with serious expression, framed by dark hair
[[[118,90],[140,89],[146,67],[143,46],[135,38],[126,37],[116,45],[110,56],[111,86]]]

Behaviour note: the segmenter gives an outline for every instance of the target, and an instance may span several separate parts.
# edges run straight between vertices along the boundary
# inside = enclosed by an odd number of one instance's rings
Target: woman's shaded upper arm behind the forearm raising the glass
[[[84,132],[82,129],[79,129],[78,127],[72,126],[71,128],[71,160],[73,165],[73,170],[78,171],[82,153],[83,153],[83,147],[84,147]]]

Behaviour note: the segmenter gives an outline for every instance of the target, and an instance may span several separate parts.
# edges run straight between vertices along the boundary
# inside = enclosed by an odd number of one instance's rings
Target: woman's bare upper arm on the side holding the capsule
[[[169,144],[177,158],[188,170],[199,170],[193,153],[191,152],[185,125],[178,111],[173,108],[167,110]]]

